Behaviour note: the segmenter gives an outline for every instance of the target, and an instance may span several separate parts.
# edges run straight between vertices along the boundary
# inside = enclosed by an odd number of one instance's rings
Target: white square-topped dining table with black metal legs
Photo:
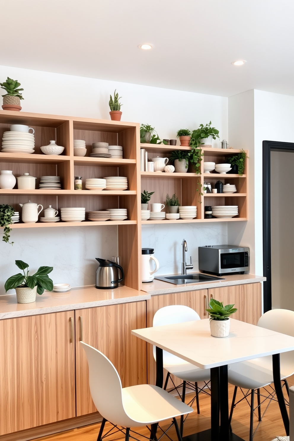
[[[294,337],[230,319],[228,337],[210,333],[209,319],[135,329],[134,336],[156,346],[156,385],[163,386],[163,350],[211,372],[211,429],[185,441],[240,441],[229,430],[228,365],[272,355],[274,385],[287,435],[289,417],[280,381],[279,354],[294,350]]]

